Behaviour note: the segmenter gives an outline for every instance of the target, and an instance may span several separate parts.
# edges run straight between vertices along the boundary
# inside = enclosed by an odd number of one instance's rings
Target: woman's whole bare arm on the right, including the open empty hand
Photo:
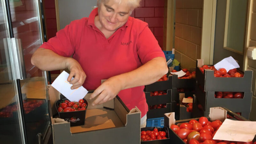
[[[92,93],[90,99],[100,94],[92,105],[113,99],[121,90],[154,83],[167,72],[166,60],[156,57],[131,72],[110,77]]]

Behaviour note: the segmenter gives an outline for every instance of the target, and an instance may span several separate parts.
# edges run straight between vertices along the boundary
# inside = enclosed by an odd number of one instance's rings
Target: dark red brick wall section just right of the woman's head
[[[132,17],[148,23],[148,27],[163,49],[164,45],[164,0],[141,0]]]

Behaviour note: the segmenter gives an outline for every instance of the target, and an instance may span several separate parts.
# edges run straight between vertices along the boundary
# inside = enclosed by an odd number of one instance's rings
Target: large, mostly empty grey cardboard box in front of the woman
[[[58,97],[54,95],[56,90],[51,85],[48,85],[48,90],[50,97]],[[141,112],[137,107],[129,110],[118,96],[111,101],[113,109],[104,104],[93,107],[89,96],[90,94],[85,96],[89,105],[84,125],[70,127],[70,123],[64,119],[51,116],[55,144],[140,143]]]

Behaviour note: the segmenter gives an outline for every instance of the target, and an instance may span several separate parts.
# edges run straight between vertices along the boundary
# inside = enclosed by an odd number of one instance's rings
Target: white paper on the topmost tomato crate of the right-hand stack
[[[234,69],[234,68],[240,68],[240,66],[238,65],[238,63],[236,62],[236,60],[230,56],[228,58],[225,58],[223,60],[221,60],[220,62],[216,63],[214,65],[214,67],[219,70],[220,68],[225,68],[227,70],[227,72],[230,69]]]

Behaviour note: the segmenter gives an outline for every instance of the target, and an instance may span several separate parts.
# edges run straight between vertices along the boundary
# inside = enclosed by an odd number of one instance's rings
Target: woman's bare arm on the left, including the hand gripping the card
[[[37,68],[46,71],[68,68],[70,70],[68,82],[73,84],[71,89],[76,89],[77,87],[80,87],[82,84],[84,84],[84,80],[86,78],[84,70],[73,58],[60,56],[52,50],[38,48],[32,55],[31,63]],[[73,76],[75,77],[71,81]]]

